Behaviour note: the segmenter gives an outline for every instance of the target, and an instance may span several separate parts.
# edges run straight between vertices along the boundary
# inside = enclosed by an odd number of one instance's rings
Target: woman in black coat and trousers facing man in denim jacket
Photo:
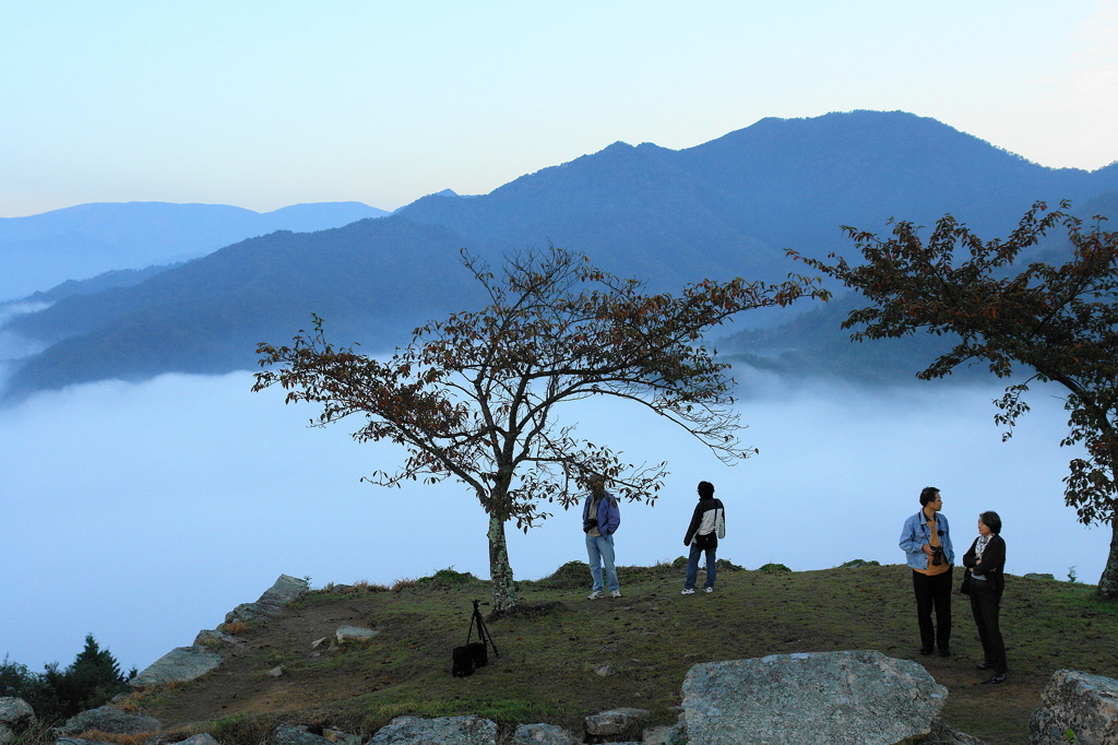
[[[969,585],[970,612],[978,626],[978,639],[985,659],[977,666],[979,670],[993,670],[994,676],[986,682],[1005,681],[1005,642],[998,614],[1002,592],[1005,590],[1005,541],[1002,539],[1002,518],[997,512],[978,516],[978,537],[970,549],[963,555],[966,567],[964,582]]]

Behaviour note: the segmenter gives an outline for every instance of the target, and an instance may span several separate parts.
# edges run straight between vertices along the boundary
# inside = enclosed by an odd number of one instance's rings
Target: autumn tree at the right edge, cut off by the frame
[[[911,223],[897,223],[893,237],[845,227],[864,263],[832,254],[818,261],[793,256],[858,290],[872,304],[850,313],[843,328],[854,339],[900,337],[925,330],[954,332],[958,342],[919,374],[948,375],[985,362],[999,378],[1016,376],[995,400],[995,419],[1012,433],[1029,411],[1023,396],[1033,381],[1067,389],[1068,434],[1080,445],[1071,460],[1064,499],[1086,525],[1109,524],[1110,553],[1098,595],[1118,598],[1118,234],[1101,218],[1084,228],[1067,214],[1068,202],[1048,211],[1038,202],[1005,241],[984,243],[953,217],[941,218],[927,242]],[[1013,266],[1022,252],[1062,225],[1072,256],[1059,266]],[[1024,371],[1022,379],[1020,372]]]

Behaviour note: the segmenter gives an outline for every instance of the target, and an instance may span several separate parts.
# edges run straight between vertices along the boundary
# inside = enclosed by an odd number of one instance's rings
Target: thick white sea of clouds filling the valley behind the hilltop
[[[143,669],[280,574],[315,587],[391,584],[444,567],[487,577],[485,517],[468,490],[362,483],[398,464],[400,451],[358,444],[344,424],[307,427],[312,407],[250,385],[248,372],[168,375],[40,393],[0,409],[0,658],[32,670],[66,664],[92,632],[122,668]],[[1076,453],[1058,445],[1065,414],[1057,393],[1033,395],[1033,411],[1003,443],[991,404],[997,388],[755,379],[738,408],[743,442],[760,452],[732,468],[633,404],[579,403],[563,421],[633,461],[670,463],[654,506],[623,504],[619,564],[684,553],[699,480],[726,503],[722,558],[796,570],[855,558],[900,564],[901,524],[919,509],[920,489],[935,485],[960,556],[978,512],[994,509],[1008,573],[1065,579],[1074,567],[1096,582],[1109,529],[1083,527],[1063,504]],[[585,560],[579,528],[580,515],[561,509],[527,535],[510,526],[517,576]]]

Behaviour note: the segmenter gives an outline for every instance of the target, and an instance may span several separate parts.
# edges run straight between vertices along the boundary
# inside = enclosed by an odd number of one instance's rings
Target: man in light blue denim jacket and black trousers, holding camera
[[[920,653],[951,656],[951,565],[955,549],[947,518],[940,515],[944,498],[935,487],[920,492],[920,511],[904,521],[900,547],[912,569],[916,617],[920,625]],[[931,612],[936,611],[936,622]]]

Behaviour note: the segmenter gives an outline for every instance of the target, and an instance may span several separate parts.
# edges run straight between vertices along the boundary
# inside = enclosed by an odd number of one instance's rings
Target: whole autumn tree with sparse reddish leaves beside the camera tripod
[[[322,407],[324,426],[363,418],[358,441],[390,441],[407,455],[368,480],[399,485],[456,479],[489,516],[493,609],[517,605],[505,525],[527,530],[567,508],[590,474],[628,500],[652,502],[663,463],[637,466],[608,446],[578,438],[557,406],[610,396],[682,426],[726,461],[745,458],[732,381],[702,336],[754,308],[824,295],[814,280],[783,284],[703,281],[678,295],[652,294],[585,257],[551,247],[506,257],[494,273],[463,252],[489,305],[416,329],[388,359],[330,343],[321,319],[292,346],[260,345],[254,390],[280,385],[287,403]]]

